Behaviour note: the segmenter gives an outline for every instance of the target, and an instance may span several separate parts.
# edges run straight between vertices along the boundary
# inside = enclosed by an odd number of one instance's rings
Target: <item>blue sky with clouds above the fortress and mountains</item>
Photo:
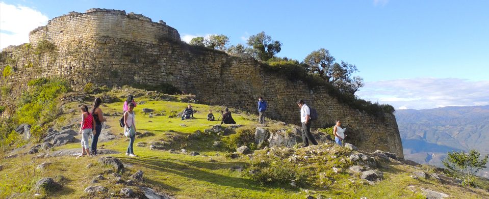
[[[118,9],[164,20],[183,40],[224,34],[245,44],[264,31],[283,43],[278,56],[299,61],[326,48],[357,66],[365,80],[358,96],[396,108],[489,105],[489,1],[2,2],[2,48],[28,42],[30,30],[70,11]],[[11,44],[17,32],[25,39]]]

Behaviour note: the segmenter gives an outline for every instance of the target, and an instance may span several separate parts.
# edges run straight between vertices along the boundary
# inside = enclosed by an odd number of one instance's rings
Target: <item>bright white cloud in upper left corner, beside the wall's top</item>
[[[37,10],[0,2],[0,49],[29,42],[29,32],[47,21]]]

